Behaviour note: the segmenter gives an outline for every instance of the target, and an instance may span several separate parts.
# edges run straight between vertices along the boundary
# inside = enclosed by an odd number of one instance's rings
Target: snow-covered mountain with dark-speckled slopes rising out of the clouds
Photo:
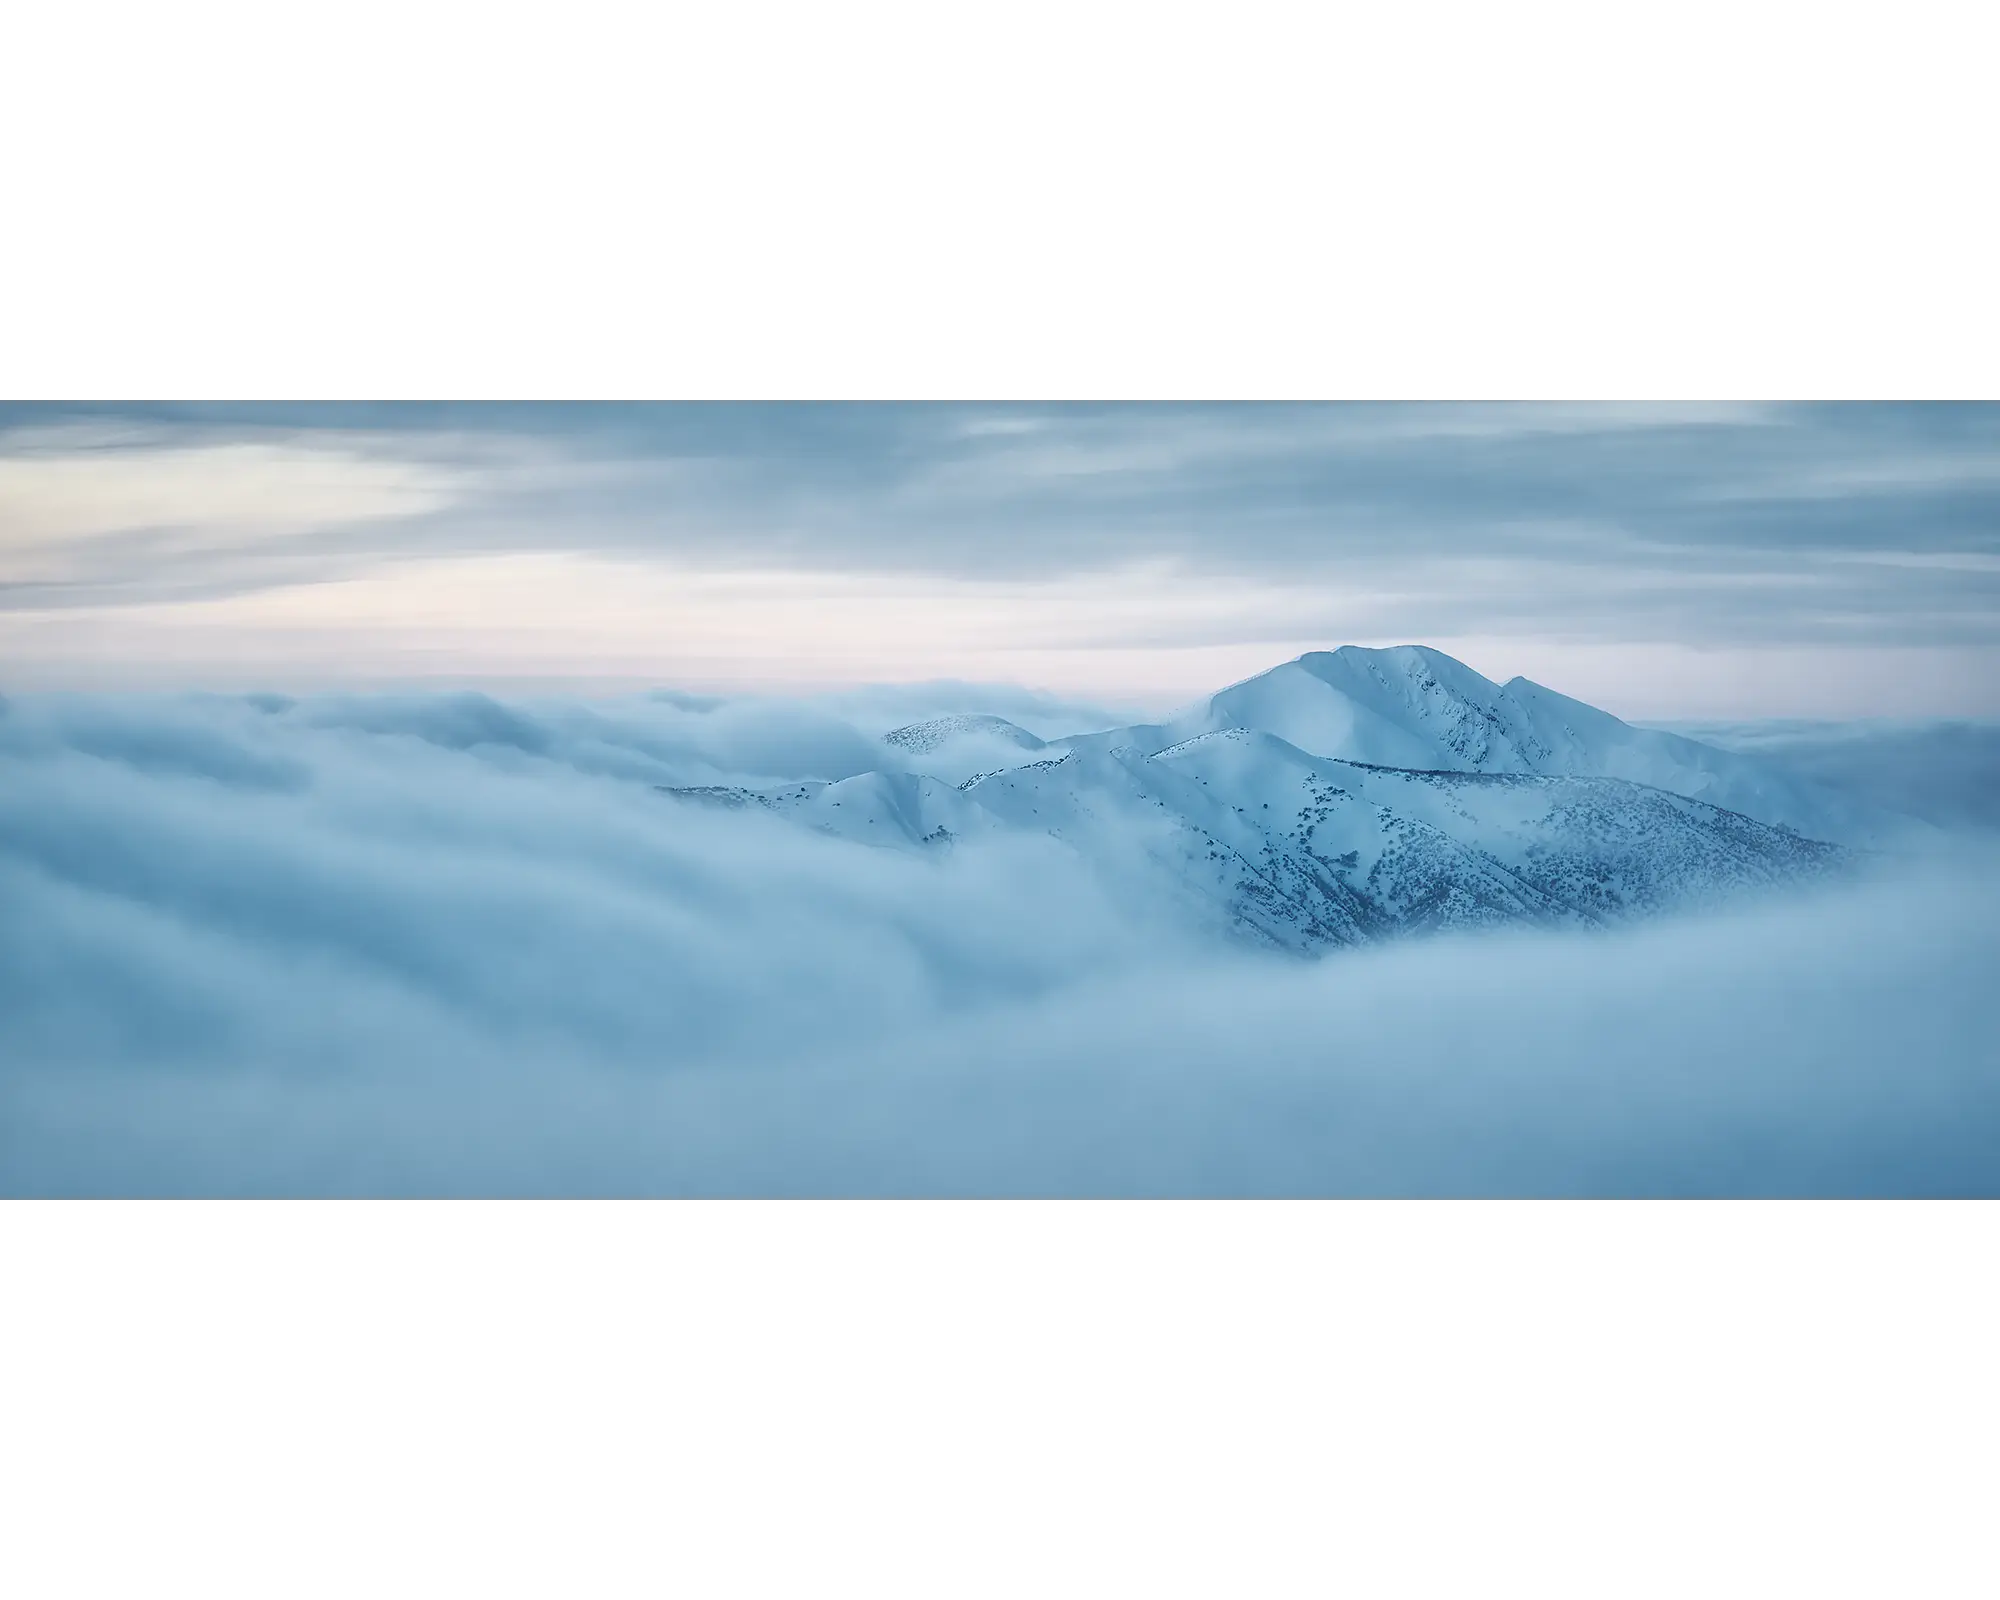
[[[934,718],[884,756],[838,782],[668,794],[896,850],[1046,834],[1200,926],[1298,952],[1706,904],[1826,872],[1882,828],[1770,762],[1422,646],[1314,652],[1168,722],[1046,742]]]

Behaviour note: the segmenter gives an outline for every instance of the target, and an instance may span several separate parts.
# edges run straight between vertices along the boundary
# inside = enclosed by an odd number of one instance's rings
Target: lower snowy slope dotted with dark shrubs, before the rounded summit
[[[1834,846],[1606,778],[1372,768],[1226,730],[1074,752],[970,798],[1086,856],[1144,838],[1232,926],[1314,948],[1390,932],[1602,922],[1818,872]]]

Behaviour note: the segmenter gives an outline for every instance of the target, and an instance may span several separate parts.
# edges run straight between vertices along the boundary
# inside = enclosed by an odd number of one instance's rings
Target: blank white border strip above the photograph
[[[1992,396],[1990,6],[20,8],[20,398]]]

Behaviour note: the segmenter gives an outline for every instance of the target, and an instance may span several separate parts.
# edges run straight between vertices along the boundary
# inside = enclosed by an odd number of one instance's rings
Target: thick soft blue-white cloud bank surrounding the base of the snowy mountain
[[[0,1190],[2000,1194],[1988,844],[1306,962],[654,788],[922,710],[6,704]]]

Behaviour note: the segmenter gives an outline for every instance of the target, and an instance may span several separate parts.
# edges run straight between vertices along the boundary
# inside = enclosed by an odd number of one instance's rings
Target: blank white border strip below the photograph
[[[1992,1594],[1992,1206],[0,1208],[6,1594]]]

